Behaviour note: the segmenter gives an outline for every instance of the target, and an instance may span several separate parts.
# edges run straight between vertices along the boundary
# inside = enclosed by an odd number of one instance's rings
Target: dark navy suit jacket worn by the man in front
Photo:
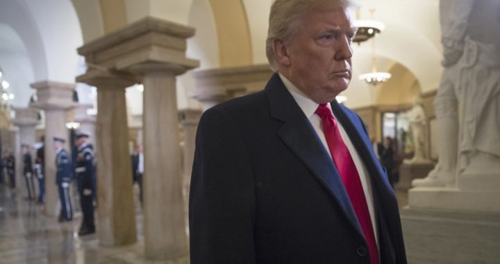
[[[406,263],[397,201],[353,111],[331,103],[372,181],[381,263]],[[201,117],[191,263],[369,263],[333,160],[281,79]]]

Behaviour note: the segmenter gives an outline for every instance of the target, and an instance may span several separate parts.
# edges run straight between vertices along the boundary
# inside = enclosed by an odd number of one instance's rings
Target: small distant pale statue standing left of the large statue
[[[427,120],[422,108],[422,101],[415,99],[413,107],[406,113],[412,129],[412,139],[414,145],[413,157],[403,162],[406,164],[430,163],[426,155],[426,127]]]

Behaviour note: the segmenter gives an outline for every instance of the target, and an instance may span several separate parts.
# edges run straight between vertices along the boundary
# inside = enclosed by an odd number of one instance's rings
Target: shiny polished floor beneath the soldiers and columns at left
[[[72,201],[72,204],[77,203]],[[135,204],[138,205],[138,201]],[[136,208],[138,230],[142,230],[142,213],[140,206]],[[141,233],[138,242],[127,247],[100,247],[95,234],[80,238],[81,213],[78,213],[78,208],[76,211],[72,222],[58,223],[56,217],[42,213],[43,206],[0,185],[0,264],[189,263],[188,257],[147,261]]]

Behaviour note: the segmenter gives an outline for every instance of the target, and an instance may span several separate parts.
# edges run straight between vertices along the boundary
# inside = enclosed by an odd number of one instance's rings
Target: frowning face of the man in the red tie
[[[284,44],[289,64],[282,74],[318,104],[333,101],[351,81],[355,33],[349,10],[331,5],[309,10]]]

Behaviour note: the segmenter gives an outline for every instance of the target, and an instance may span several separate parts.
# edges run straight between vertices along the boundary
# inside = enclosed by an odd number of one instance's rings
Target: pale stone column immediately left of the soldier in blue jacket
[[[73,101],[74,83],[58,83],[41,81],[32,83],[31,88],[37,92],[38,101],[32,107],[42,109],[45,113],[45,213],[59,215],[57,204],[59,201],[56,186],[56,150],[53,149],[53,137],[68,140],[66,129],[67,110],[76,106]]]

